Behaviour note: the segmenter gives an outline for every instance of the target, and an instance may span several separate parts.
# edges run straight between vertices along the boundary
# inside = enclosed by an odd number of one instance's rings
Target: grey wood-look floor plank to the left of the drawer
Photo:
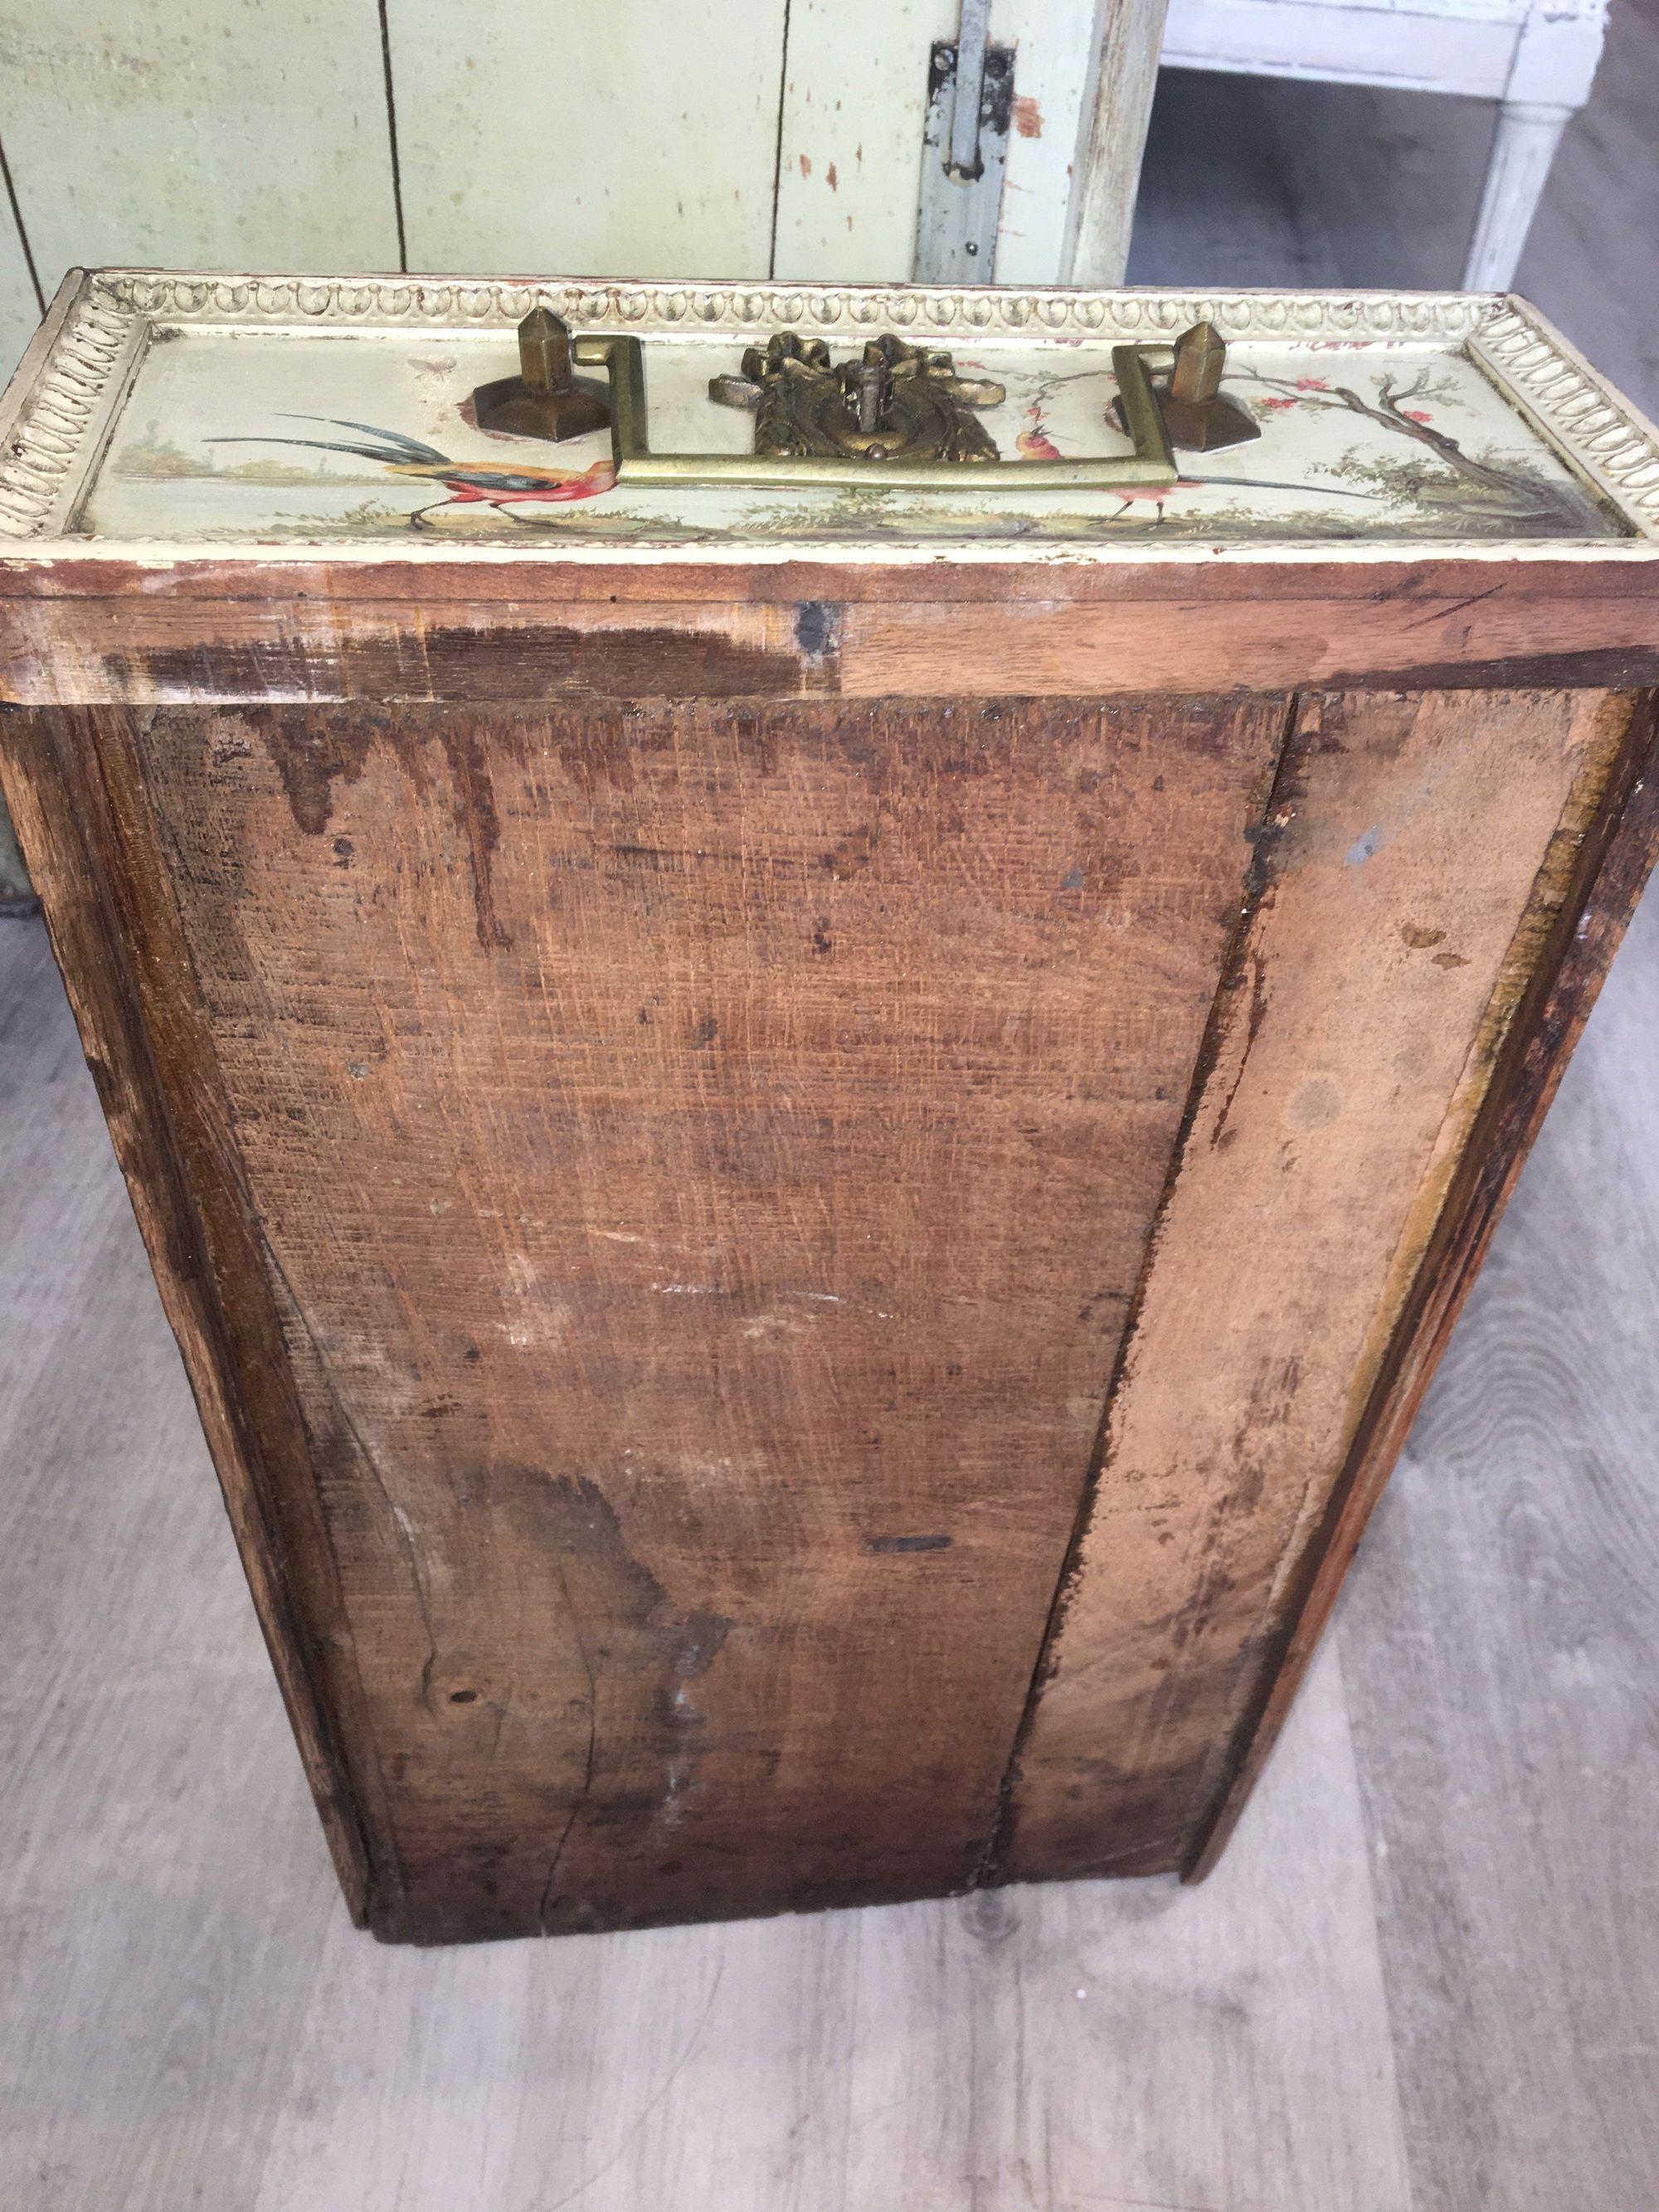
[[[246,2205],[334,1878],[62,984],[18,920],[0,1310],[0,2203]]]

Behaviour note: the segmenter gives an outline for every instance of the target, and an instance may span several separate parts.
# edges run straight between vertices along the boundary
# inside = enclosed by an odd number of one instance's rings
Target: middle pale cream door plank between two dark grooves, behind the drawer
[[[389,0],[409,268],[765,276],[783,0]]]

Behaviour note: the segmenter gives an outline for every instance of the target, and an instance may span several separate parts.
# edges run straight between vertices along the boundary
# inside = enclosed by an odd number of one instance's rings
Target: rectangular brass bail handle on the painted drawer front
[[[768,489],[776,484],[891,484],[896,491],[1071,491],[1071,489],[1139,489],[1155,491],[1177,482],[1175,453],[1164,427],[1152,369],[1175,363],[1170,345],[1115,345],[1124,429],[1135,451],[1091,460],[1011,460],[991,467],[962,467],[956,460],[858,460],[830,453],[653,453],[646,416],[646,352],[639,338],[575,338],[577,367],[604,369],[611,378],[611,451],[619,484],[737,484]]]

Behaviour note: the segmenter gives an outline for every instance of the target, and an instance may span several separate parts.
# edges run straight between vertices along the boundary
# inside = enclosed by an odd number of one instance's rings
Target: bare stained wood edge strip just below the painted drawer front
[[[1020,699],[1102,686],[1659,681],[1659,564],[1263,564],[1243,586],[1234,568],[987,566],[953,568],[951,599],[938,597],[938,568],[920,564],[867,575],[790,564],[737,580],[571,564],[560,599],[546,597],[546,568],[518,564],[480,582],[476,562],[387,564],[385,575],[305,562],[283,571],[281,593],[250,588],[232,564],[84,566],[82,597],[62,577],[0,564],[0,699]],[[40,595],[11,597],[13,586]]]

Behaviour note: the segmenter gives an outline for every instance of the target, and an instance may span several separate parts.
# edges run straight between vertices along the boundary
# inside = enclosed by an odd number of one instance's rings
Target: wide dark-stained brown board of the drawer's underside
[[[1285,706],[148,721],[383,1933],[975,1876]]]

